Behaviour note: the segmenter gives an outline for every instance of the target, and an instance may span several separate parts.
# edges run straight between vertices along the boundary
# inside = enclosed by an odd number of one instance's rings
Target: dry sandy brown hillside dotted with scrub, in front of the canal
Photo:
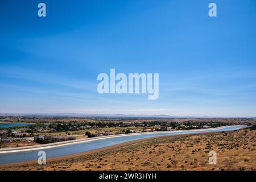
[[[105,148],[71,159],[0,170],[256,170],[256,131],[164,137]],[[126,144],[126,145],[127,145]],[[217,164],[208,163],[210,150]]]

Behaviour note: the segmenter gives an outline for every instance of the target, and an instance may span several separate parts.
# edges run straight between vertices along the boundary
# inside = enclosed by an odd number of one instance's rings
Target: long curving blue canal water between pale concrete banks
[[[130,142],[138,139],[144,139],[144,138],[150,138],[150,137],[161,137],[161,136],[172,136],[177,134],[200,134],[200,133],[209,133],[209,132],[218,132],[218,131],[233,131],[233,130],[241,129],[243,127],[246,127],[246,126],[236,125],[236,126],[227,126],[221,129],[212,129],[212,130],[193,130],[193,131],[184,130],[179,132],[164,131],[164,132],[154,132],[154,133],[129,134],[125,136],[120,135],[113,138],[102,138],[102,139],[94,138],[90,141],[85,140],[82,143],[71,143],[65,146],[46,148],[46,149],[43,149],[43,151],[46,152],[46,162],[47,162],[47,158],[77,154],[80,152],[95,150],[97,148],[108,147],[114,144]],[[39,158],[38,152],[41,150],[42,149],[0,154],[0,164],[25,162],[28,160],[38,160]]]

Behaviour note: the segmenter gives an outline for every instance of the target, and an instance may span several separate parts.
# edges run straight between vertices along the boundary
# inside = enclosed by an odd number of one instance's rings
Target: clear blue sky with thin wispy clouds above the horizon
[[[47,17],[37,15],[44,2]],[[210,2],[217,17],[208,16]],[[256,116],[256,2],[0,2],[0,113]],[[97,76],[159,73],[159,98]]]

